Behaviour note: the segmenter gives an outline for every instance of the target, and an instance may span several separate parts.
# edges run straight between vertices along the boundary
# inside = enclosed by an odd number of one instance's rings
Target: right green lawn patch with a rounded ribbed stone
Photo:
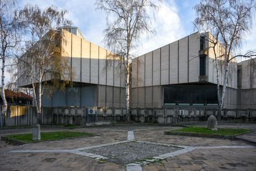
[[[190,133],[204,133],[207,135],[238,135],[240,133],[250,132],[249,129],[221,129],[218,130],[211,130],[207,129],[206,127],[184,127],[182,129],[172,130],[172,132],[190,132]]]

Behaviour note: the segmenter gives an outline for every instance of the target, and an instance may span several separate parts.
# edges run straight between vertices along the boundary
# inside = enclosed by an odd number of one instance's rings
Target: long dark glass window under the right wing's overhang
[[[217,105],[216,85],[169,85],[164,87],[164,105]]]

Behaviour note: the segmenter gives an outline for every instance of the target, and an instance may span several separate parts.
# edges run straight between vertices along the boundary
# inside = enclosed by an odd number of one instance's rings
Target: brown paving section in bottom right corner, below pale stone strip
[[[143,170],[255,170],[256,149],[195,149]]]

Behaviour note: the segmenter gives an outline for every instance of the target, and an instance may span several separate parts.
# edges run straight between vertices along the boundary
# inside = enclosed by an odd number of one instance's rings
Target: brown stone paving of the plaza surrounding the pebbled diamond
[[[225,127],[225,125],[222,125]],[[236,127],[237,124],[227,124]],[[89,157],[71,153],[7,153],[14,149],[74,149],[86,146],[102,145],[127,140],[127,130],[135,130],[135,140],[185,146],[247,146],[244,141],[231,141],[215,138],[181,137],[164,135],[164,130],[177,127],[146,126],[127,129],[125,125],[116,127],[94,127],[71,129],[70,131],[93,132],[99,136],[31,143],[23,146],[9,145],[0,141],[0,170],[126,170],[124,165],[98,161]],[[128,126],[129,127],[129,126]],[[240,127],[248,127],[240,125]],[[250,124],[249,127],[256,127]],[[29,129],[24,129],[25,132]],[[43,129],[44,130],[44,129]],[[55,130],[55,129],[47,129]],[[68,130],[68,129],[65,129]],[[5,130],[4,133],[12,133]],[[19,130],[18,132],[23,132]],[[0,135],[3,132],[0,131]],[[253,135],[254,136],[254,135]],[[151,150],[151,149],[149,149]],[[142,167],[143,170],[256,170],[256,148],[206,148],[194,149],[188,153],[169,157],[160,162]]]

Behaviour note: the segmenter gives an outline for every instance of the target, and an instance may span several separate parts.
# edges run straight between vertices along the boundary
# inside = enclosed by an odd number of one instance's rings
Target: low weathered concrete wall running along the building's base
[[[126,109],[108,108],[103,111],[95,108],[95,114],[88,114],[86,107],[42,108],[41,124],[76,124],[100,123],[101,121],[125,121]],[[179,115],[183,110],[183,115]],[[217,114],[212,108],[132,108],[131,118],[139,122],[176,124],[188,121],[206,121],[211,114]],[[244,119],[256,121],[256,109],[223,109],[222,119]],[[4,125],[33,125],[37,123],[36,108],[33,106],[9,106],[4,117]],[[95,124],[96,124],[95,123]],[[101,122],[104,123],[104,122]]]

